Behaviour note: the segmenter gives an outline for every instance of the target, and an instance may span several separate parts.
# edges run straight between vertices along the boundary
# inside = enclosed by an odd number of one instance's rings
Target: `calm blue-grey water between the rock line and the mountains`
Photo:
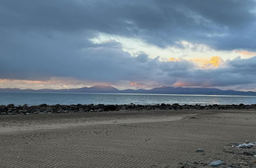
[[[87,94],[87,93],[0,93],[0,104],[256,104],[256,96]]]

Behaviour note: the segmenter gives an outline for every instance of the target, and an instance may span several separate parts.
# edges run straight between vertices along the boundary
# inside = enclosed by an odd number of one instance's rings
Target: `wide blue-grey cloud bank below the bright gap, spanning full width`
[[[87,33],[83,36],[87,37]],[[5,44],[0,45],[0,78],[74,77],[109,83],[155,81],[160,85],[181,81],[188,86],[205,87],[256,83],[256,57],[228,60],[224,68],[198,69],[186,60],[162,62],[144,53],[132,57],[115,41],[93,44],[83,36],[19,31],[2,34],[8,38],[0,39]]]

